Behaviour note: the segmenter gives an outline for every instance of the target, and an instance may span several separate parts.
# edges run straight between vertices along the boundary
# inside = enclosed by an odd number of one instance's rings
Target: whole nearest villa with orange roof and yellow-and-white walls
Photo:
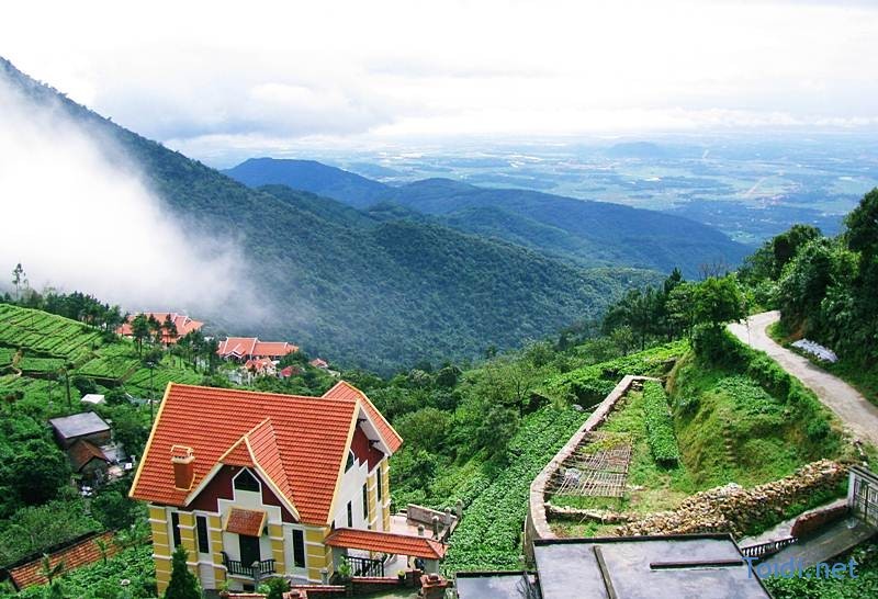
[[[149,506],[159,592],[180,544],[205,589],[325,583],[381,554],[436,572],[441,542],[391,532],[387,459],[402,442],[346,382],[320,397],[169,384],[131,490]]]

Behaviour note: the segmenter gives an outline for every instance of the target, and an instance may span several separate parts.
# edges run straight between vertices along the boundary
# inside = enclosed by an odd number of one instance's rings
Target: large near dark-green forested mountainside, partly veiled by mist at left
[[[193,240],[210,236],[240,249],[248,264],[243,284],[264,316],[244,327],[238,314],[203,314],[230,334],[289,339],[346,366],[389,372],[548,335],[596,315],[626,286],[655,279],[642,271],[584,271],[434,224],[382,223],[288,188],[252,190],[115,125],[7,61],[0,61],[0,80],[29,99],[35,117],[66,113],[120,168],[135,165]]]

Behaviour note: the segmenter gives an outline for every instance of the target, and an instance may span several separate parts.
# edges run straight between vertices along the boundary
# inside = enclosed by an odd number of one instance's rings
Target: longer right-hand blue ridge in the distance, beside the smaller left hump
[[[440,215],[458,228],[492,234],[582,265],[661,271],[678,267],[695,275],[703,263],[733,267],[747,253],[722,233],[688,218],[537,191],[428,179],[398,188],[389,199]]]

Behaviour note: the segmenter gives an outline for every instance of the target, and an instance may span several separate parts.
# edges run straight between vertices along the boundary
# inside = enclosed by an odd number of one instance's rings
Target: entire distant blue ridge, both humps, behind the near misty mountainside
[[[707,225],[667,213],[449,179],[391,187],[317,165],[259,158],[225,172],[248,185],[285,184],[358,207],[399,204],[458,230],[510,241],[581,267],[679,268],[695,275],[703,263],[733,268],[748,252]]]

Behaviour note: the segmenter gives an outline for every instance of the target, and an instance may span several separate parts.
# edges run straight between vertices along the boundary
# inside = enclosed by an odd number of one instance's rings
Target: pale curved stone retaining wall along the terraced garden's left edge
[[[619,399],[624,397],[624,394],[628,393],[628,389],[631,387],[631,385],[634,382],[643,381],[658,380],[651,376],[623,376],[616,387],[614,387],[614,389],[609,393],[609,395],[607,395],[607,397],[605,397],[604,400],[597,405],[585,423],[579,427],[579,430],[577,430],[573,437],[570,438],[566,444],[561,448],[555,456],[552,457],[552,460],[545,465],[545,467],[542,468],[540,474],[538,474],[530,484],[528,515],[527,519],[525,520],[525,552],[528,554],[528,560],[533,560],[532,546],[534,540],[558,538],[558,535],[552,532],[552,529],[549,527],[549,522],[545,518],[545,485],[552,478],[552,475],[555,473],[561,463],[576,450],[579,443],[582,443],[586,433],[592,432],[604,423],[612,409],[616,407],[616,404],[619,402]]]

